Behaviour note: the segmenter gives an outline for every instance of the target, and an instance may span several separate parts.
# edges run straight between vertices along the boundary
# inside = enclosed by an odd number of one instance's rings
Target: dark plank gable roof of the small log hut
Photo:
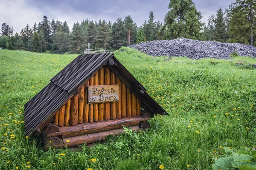
[[[108,63],[111,57],[115,61],[114,65]],[[104,64],[107,64],[125,85],[134,92],[149,109],[148,112],[152,116],[157,113],[168,115],[146,92],[141,94],[136,91],[137,89],[146,91],[146,89],[114,57],[113,53],[81,54],[52,77],[51,82],[25,104],[25,136],[33,134],[67,99],[78,93],[79,86],[90,79]]]

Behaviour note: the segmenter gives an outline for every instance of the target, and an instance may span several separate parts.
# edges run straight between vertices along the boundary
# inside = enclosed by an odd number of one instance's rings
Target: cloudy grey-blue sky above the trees
[[[218,8],[228,8],[233,0],[193,0],[201,11],[202,22],[207,23],[211,14]],[[74,22],[81,20],[107,20],[112,23],[118,17],[131,15],[137,26],[148,20],[150,11],[154,12],[155,21],[163,22],[169,0],[0,0],[0,25],[13,26],[20,32],[28,23],[30,27],[46,15],[49,20],[67,21],[70,29]]]

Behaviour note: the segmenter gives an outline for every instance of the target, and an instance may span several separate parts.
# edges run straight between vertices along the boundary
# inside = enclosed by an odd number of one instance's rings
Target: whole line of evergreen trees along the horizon
[[[255,0],[234,0],[229,8],[219,8],[211,15],[207,25],[201,22],[201,12],[192,0],[170,0],[164,22],[154,21],[153,11],[140,27],[131,16],[118,18],[114,23],[106,20],[82,20],[70,30],[66,21],[47,16],[33,27],[28,24],[13,35],[14,28],[2,24],[0,47],[55,54],[82,53],[90,42],[92,49],[116,50],[139,42],[189,38],[220,42],[239,42],[256,45],[254,22]]]

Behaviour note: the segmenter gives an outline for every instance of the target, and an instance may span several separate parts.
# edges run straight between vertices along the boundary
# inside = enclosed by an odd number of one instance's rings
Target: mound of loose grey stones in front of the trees
[[[140,42],[129,47],[152,56],[231,59],[230,54],[237,53],[239,56],[256,57],[256,47],[250,45],[198,41],[186,38]]]

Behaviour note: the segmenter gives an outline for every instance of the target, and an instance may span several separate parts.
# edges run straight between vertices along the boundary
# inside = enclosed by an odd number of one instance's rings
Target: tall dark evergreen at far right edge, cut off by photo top
[[[256,21],[255,0],[235,0],[230,20],[230,34],[236,42],[253,46],[253,34]]]

